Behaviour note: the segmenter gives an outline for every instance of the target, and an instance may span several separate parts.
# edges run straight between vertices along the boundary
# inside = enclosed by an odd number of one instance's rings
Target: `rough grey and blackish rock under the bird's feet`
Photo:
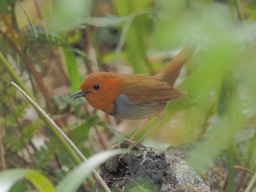
[[[129,145],[125,140],[118,146]],[[171,153],[139,144],[133,147],[132,154],[119,158],[116,155],[100,166],[99,174],[111,191],[210,191],[189,164]],[[99,183],[96,186],[97,191],[102,191]]]

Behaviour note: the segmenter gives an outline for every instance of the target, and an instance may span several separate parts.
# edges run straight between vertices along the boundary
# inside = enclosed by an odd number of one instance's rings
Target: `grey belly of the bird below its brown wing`
[[[146,105],[132,104],[128,97],[121,94],[115,101],[115,109],[112,115],[116,118],[140,120],[160,115],[165,110],[166,103]]]

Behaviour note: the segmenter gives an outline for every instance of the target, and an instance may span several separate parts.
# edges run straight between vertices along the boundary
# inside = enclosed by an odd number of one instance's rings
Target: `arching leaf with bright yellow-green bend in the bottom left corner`
[[[23,179],[23,177],[33,183],[34,187],[37,188],[37,191],[51,192],[54,190],[50,180],[37,171],[32,169],[7,169],[0,172],[1,191],[9,191],[10,188],[12,188],[12,186],[19,180]]]

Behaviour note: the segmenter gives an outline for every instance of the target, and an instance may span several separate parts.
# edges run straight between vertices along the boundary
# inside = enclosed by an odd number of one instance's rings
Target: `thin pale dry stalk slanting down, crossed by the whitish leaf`
[[[77,153],[77,155],[83,160],[83,161],[87,161],[87,158],[83,155],[83,153],[80,152],[80,150],[78,149],[77,146],[75,146],[75,144],[71,141],[71,139],[69,139],[69,137],[67,137],[66,134],[64,134],[64,132],[61,130],[61,128],[59,128],[59,126],[56,125],[56,123],[46,114],[46,112],[44,110],[41,109],[41,107],[39,107],[39,105],[33,100],[31,99],[31,97],[25,93],[25,91],[23,91],[17,84],[15,84],[15,82],[11,82],[11,84],[13,86],[15,86],[15,88],[17,88],[18,91],[20,91],[20,93],[23,94],[23,96],[26,97],[26,99],[29,100],[29,102],[33,105],[33,107],[40,113],[42,114],[56,129],[56,131],[59,132],[59,134],[61,134],[61,137],[63,137],[67,143],[69,144],[70,147],[72,147],[72,150],[75,151],[75,153]],[[99,183],[102,185],[103,188],[105,188],[105,191],[111,192],[110,189],[108,188],[108,185],[104,182],[104,180],[102,180],[102,177],[100,177],[100,175],[96,172],[96,170],[94,169],[94,174],[95,177],[97,177],[97,180],[99,180]]]

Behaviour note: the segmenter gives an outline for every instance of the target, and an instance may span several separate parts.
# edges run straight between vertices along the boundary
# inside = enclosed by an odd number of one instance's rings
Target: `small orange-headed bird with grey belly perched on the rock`
[[[173,86],[182,66],[195,49],[195,44],[185,46],[154,76],[112,72],[91,73],[83,79],[79,91],[72,94],[71,100],[84,97],[92,107],[115,118],[146,119],[128,139],[130,142],[137,137],[151,118],[158,116],[157,123],[138,140],[140,142],[163,120],[167,103],[184,95],[184,91],[179,91]]]

